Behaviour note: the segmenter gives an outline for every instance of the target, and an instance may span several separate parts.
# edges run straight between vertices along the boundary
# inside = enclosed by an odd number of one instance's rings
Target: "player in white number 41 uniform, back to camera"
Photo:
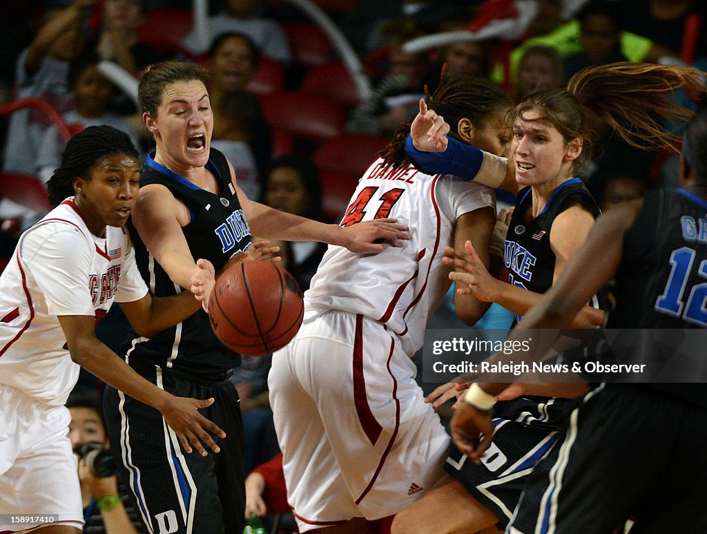
[[[444,111],[462,142],[503,154],[510,98],[496,86],[443,76],[428,105]],[[470,239],[488,250],[495,195],[411,166],[409,128],[366,170],[341,226],[390,216],[411,228],[411,240],[375,256],[329,247],[305,292],[303,325],[273,356],[270,400],[300,532],[390,524],[444,477],[450,439],[423,402],[411,356],[449,287],[444,246]],[[474,324],[486,305],[462,297],[456,309]]]

